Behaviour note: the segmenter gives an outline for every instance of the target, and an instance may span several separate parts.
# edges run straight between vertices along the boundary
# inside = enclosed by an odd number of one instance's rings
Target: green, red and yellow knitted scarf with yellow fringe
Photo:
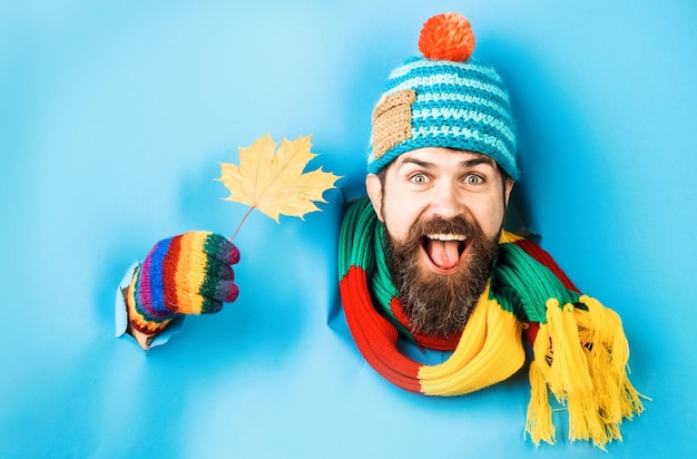
[[[532,344],[526,431],[554,442],[549,393],[567,406],[569,439],[605,449],[621,439],[624,418],[644,411],[627,377],[629,346],[617,313],[581,295],[537,244],[503,232],[489,285],[462,334],[438,339],[411,331],[384,253],[382,224],[367,198],[351,204],[340,236],[340,289],[346,321],[365,360],[395,385],[428,395],[459,395],[503,381]],[[435,365],[397,350],[402,338],[452,351]]]

